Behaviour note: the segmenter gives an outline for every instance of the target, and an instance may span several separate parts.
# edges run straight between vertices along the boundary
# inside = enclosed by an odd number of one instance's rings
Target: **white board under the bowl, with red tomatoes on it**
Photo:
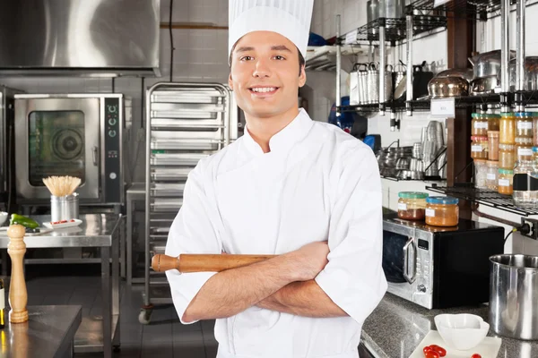
[[[476,345],[474,348],[460,351],[451,348],[441,338],[437,330],[430,330],[430,332],[422,339],[421,343],[417,345],[415,350],[409,356],[409,358],[424,358],[422,349],[427,345],[439,345],[447,350],[445,358],[470,358],[473,354],[477,353],[482,355],[482,358],[496,357],[499,354],[500,344],[502,339],[499,337],[485,337],[482,339],[480,345]]]

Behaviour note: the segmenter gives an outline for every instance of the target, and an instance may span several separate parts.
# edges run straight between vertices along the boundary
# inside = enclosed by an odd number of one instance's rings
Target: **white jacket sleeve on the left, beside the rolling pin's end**
[[[201,163],[188,175],[183,192],[183,205],[170,226],[165,253],[177,257],[181,253],[221,253],[218,230],[218,211],[210,195],[204,190]],[[195,295],[214,272],[179,274],[175,269],[166,272],[172,301],[183,324],[183,314]]]

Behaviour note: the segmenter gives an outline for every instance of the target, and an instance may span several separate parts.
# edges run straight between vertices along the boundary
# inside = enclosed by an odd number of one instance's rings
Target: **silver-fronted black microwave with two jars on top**
[[[429,226],[396,213],[383,218],[387,291],[427,309],[486,303],[490,256],[504,251],[504,228],[460,219]]]

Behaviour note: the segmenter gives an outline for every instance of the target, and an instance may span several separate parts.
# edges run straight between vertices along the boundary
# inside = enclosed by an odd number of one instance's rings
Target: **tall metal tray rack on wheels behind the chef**
[[[220,83],[160,82],[146,92],[145,272],[142,324],[154,304],[172,303],[164,274],[151,272],[181,209],[188,174],[198,161],[238,138],[238,109]]]

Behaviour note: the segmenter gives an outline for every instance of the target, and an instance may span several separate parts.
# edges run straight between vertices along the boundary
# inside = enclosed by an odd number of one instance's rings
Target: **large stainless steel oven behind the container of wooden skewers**
[[[21,204],[50,201],[43,178],[81,178],[81,204],[124,199],[124,96],[20,94],[15,102],[15,192]]]

